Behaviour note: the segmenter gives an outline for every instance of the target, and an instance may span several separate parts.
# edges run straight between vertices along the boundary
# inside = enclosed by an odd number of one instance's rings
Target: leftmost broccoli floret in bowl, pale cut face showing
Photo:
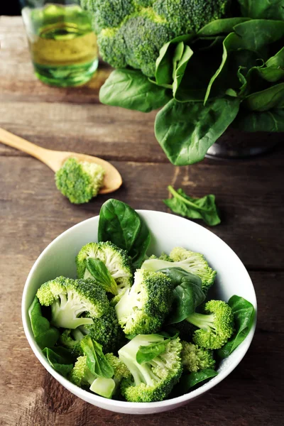
[[[58,277],[41,285],[36,295],[41,305],[51,307],[55,327],[75,329],[92,324],[93,317],[109,310],[107,294],[94,280]]]

